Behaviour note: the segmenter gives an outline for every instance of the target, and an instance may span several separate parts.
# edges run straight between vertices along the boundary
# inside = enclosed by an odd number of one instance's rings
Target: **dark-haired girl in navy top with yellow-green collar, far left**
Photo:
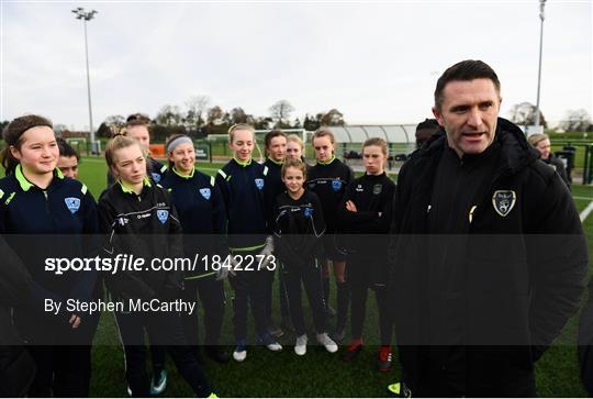
[[[68,312],[66,301],[97,298],[97,273],[57,275],[44,265],[47,258],[97,255],[92,240],[86,240],[98,232],[96,202],[85,185],[56,167],[59,151],[49,120],[16,118],[3,137],[0,233],[32,278],[31,308],[15,308],[13,314],[37,366],[29,396],[88,397],[97,324],[87,314]],[[60,303],[61,311],[46,312],[47,300]]]

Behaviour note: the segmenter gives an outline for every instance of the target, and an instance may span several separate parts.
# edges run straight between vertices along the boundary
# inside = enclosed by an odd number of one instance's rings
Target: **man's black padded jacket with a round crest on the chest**
[[[441,133],[413,153],[394,197],[390,293],[404,379],[418,394],[427,370],[462,365],[463,394],[523,396],[523,377],[533,378],[533,363],[579,303],[588,263],[579,214],[558,174],[537,160],[517,126],[499,119],[496,164],[479,189],[468,190],[475,195],[462,215],[466,230],[452,239],[429,236],[433,187],[446,147]],[[457,245],[446,251],[461,256],[428,251],[443,240]],[[437,345],[454,350],[429,364],[436,357],[426,352]],[[466,347],[490,351],[472,357],[459,350]]]

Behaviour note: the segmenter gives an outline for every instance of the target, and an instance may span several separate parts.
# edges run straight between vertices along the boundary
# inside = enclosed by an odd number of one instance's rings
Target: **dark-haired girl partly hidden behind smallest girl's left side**
[[[264,137],[264,144],[266,147],[266,153],[268,154],[268,158],[264,163],[264,166],[268,167],[268,188],[266,190],[266,195],[268,196],[266,202],[267,202],[267,209],[270,212],[269,218],[273,218],[273,202],[276,200],[276,197],[282,191],[286,190],[284,184],[282,182],[282,165],[284,164],[284,157],[287,155],[287,136],[284,133],[282,133],[281,130],[272,130],[266,136]],[[270,220],[270,219],[269,219]],[[282,274],[279,271],[279,280],[280,284],[278,285],[279,288],[279,298],[280,298],[280,314],[282,317],[282,321],[280,323],[280,326],[275,325],[272,321],[272,286],[273,286],[273,275],[276,270],[272,270],[269,273],[269,285],[267,287],[266,292],[266,314],[268,317],[268,331],[271,335],[276,337],[280,337],[284,335],[283,328],[290,328],[289,322],[289,311],[288,311],[288,303],[287,303],[287,297],[283,295],[282,289]]]

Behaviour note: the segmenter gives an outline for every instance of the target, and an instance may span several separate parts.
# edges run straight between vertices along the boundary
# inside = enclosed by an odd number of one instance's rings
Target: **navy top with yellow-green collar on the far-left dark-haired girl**
[[[0,179],[0,233],[31,273],[35,301],[91,298],[94,270],[56,275],[45,270],[45,262],[97,256],[98,231],[97,203],[87,186],[58,168],[46,189],[29,181],[21,165]]]

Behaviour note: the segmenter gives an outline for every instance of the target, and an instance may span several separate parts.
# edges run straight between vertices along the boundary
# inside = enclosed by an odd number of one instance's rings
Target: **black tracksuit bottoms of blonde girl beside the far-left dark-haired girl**
[[[115,312],[115,319],[124,346],[125,373],[132,396],[148,397],[150,394],[150,379],[146,373],[145,331],[153,345],[167,348],[179,374],[195,395],[208,397],[212,394],[202,366],[188,347],[178,312]]]

